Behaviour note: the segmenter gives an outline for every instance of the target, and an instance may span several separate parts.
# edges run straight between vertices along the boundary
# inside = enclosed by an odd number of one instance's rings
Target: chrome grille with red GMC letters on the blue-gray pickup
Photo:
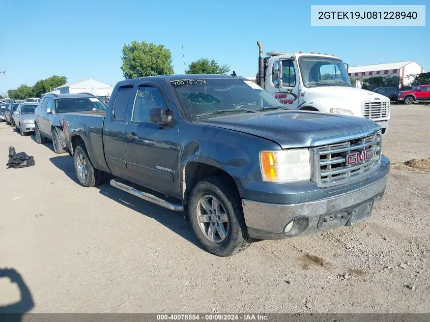
[[[312,181],[330,187],[359,179],[381,162],[381,131],[311,149]]]

